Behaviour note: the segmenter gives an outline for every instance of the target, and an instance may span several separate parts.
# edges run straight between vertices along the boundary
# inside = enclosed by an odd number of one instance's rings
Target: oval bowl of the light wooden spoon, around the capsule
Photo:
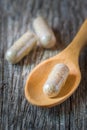
[[[55,98],[49,98],[43,93],[43,85],[52,70],[58,63],[66,64],[70,69],[69,77]],[[64,62],[63,59],[51,58],[39,64],[28,77],[25,94],[29,102],[39,106],[54,106],[66,100],[77,88],[81,79],[79,69],[72,61]]]

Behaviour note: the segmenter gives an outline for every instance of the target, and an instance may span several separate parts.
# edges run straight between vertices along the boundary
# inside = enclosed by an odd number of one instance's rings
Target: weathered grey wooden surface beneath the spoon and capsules
[[[7,48],[29,29],[37,14],[43,14],[53,27],[56,47],[37,47],[20,63],[11,65],[4,58]],[[82,81],[67,101],[53,108],[39,108],[24,96],[29,72],[65,48],[86,17],[86,0],[0,0],[0,130],[87,130],[86,47],[80,55]]]

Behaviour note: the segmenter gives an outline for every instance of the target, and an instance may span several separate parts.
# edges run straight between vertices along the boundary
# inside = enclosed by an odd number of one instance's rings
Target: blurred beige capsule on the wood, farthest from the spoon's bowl
[[[33,28],[44,48],[51,48],[55,45],[55,35],[43,17],[39,16],[33,21]]]

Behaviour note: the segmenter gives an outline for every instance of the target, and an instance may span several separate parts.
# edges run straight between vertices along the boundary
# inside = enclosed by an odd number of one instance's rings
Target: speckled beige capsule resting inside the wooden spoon
[[[55,97],[64,86],[69,75],[69,68],[63,64],[57,64],[53,67],[43,86],[43,92],[48,97]]]

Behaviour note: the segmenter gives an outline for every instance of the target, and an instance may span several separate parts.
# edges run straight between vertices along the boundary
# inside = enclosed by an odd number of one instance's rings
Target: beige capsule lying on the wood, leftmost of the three
[[[5,58],[7,61],[15,64],[26,56],[36,45],[37,37],[33,32],[26,32],[19,38],[11,48],[6,52]]]

